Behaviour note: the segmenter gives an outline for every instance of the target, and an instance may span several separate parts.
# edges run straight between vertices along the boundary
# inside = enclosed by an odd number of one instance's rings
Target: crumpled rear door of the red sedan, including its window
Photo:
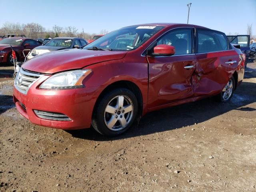
[[[195,96],[220,93],[239,62],[224,33],[200,28],[196,29],[196,59],[192,77]]]

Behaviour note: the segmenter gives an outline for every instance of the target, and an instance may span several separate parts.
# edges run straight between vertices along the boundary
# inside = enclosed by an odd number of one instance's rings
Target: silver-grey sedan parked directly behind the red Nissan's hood
[[[51,51],[63,50],[63,49],[73,49],[84,47],[88,44],[86,40],[76,37],[57,37],[49,40],[46,44],[34,48],[28,55],[28,60],[32,59],[34,56],[40,54],[48,53]]]

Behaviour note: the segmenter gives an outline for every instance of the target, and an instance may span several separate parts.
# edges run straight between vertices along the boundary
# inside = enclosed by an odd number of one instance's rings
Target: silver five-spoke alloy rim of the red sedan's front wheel
[[[104,122],[112,131],[123,130],[130,123],[133,111],[134,105],[128,96],[115,96],[105,108]]]

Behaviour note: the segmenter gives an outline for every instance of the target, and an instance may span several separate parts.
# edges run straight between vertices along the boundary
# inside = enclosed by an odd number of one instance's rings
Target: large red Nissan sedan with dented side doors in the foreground
[[[64,130],[91,125],[125,132],[147,112],[215,96],[228,102],[244,77],[244,54],[222,32],[188,24],[142,24],[84,49],[26,62],[16,108],[32,123]]]

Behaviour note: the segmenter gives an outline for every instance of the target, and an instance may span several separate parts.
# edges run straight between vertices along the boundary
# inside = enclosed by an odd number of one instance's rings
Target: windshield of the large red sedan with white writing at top
[[[134,50],[146,42],[150,37],[160,31],[163,26],[130,26],[113,31],[94,42],[84,49],[93,47],[106,48],[112,51]]]

